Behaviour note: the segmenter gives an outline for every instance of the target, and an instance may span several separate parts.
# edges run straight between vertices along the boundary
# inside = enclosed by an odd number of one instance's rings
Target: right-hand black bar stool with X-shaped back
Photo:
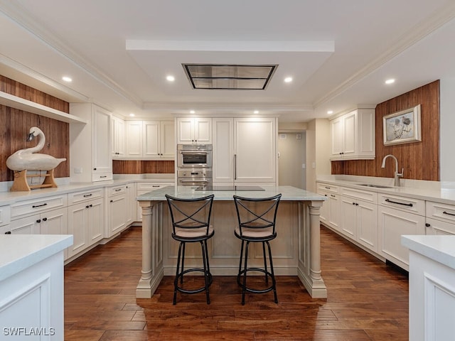
[[[277,220],[277,210],[281,194],[273,197],[252,198],[234,195],[235,209],[237,210],[238,226],[235,227],[235,237],[242,241],[240,248],[239,272],[237,283],[242,287],[242,305],[245,305],[245,293],[268,293],[273,290],[274,301],[278,303],[277,283],[275,281],[272,250],[269,241],[277,237],[275,221]],[[248,267],[248,248],[250,242],[262,243],[262,254],[264,256],[264,269],[258,267]],[[246,245],[245,245],[246,243]],[[265,256],[265,245],[269,252],[270,271],[267,269],[267,259]],[[245,255],[243,250],[245,249]],[[242,258],[245,262],[242,268]],[[251,288],[247,286],[247,273],[259,271],[265,274],[265,284],[267,288]],[[269,286],[269,277],[272,278],[272,285]]]

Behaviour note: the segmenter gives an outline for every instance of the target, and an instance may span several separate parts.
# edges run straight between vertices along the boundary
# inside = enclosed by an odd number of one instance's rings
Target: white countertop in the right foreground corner
[[[429,259],[455,269],[455,236],[403,235],[401,244]]]

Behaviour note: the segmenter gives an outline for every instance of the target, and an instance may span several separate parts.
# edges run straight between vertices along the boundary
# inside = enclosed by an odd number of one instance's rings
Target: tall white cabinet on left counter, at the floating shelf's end
[[[112,180],[110,112],[90,103],[71,103],[70,112],[90,122],[70,124],[71,180]]]

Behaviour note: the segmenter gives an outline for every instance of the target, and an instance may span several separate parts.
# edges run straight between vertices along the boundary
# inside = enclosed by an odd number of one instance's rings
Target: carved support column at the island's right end
[[[321,276],[321,233],[319,211],[322,201],[300,202],[299,266],[297,274],[312,298],[327,298]]]

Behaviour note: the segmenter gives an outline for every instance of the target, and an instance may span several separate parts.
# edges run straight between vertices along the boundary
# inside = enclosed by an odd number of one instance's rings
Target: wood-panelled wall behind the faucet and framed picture
[[[421,104],[422,141],[384,146],[382,117]],[[332,161],[332,174],[365,175],[392,178],[393,160],[381,168],[382,158],[392,154],[398,168],[405,168],[404,178],[439,181],[439,80],[378,104],[376,107],[375,160]]]

